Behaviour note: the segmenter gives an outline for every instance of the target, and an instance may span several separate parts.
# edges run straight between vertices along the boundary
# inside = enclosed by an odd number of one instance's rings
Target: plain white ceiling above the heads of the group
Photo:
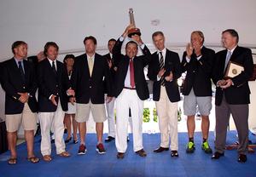
[[[12,56],[10,46],[26,41],[29,54],[55,41],[61,51],[83,49],[85,36],[93,35],[98,48],[117,38],[129,24],[129,8],[145,43],[164,31],[170,46],[185,45],[190,32],[201,30],[206,43],[218,45],[221,31],[235,28],[240,43],[256,46],[255,0],[0,0],[0,60]]]

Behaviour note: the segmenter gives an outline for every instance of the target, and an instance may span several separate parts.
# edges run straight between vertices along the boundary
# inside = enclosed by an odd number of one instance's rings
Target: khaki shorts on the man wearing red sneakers
[[[104,104],[92,104],[90,101],[88,104],[79,104],[76,103],[76,121],[78,123],[87,122],[90,116],[90,111],[93,117],[94,122],[103,123],[107,120],[106,110]]]

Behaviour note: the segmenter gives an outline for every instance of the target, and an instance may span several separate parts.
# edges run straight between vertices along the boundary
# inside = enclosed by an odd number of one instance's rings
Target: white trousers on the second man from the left
[[[41,153],[43,156],[50,155],[51,145],[50,145],[50,128],[53,128],[55,134],[55,146],[56,153],[60,154],[65,151],[65,142],[63,140],[64,134],[64,114],[62,111],[60,100],[58,101],[58,107],[55,112],[39,112],[39,121],[41,127]]]

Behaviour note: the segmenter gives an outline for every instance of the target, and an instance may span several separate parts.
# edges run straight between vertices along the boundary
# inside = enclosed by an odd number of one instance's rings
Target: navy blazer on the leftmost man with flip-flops
[[[25,71],[25,83],[22,81],[20,69],[16,64],[15,58],[6,60],[1,64],[2,74],[1,83],[5,91],[5,114],[20,114],[24,104],[19,101],[20,94],[29,93],[28,106],[32,112],[36,112],[37,100],[37,81],[34,67],[28,61],[23,60]]]

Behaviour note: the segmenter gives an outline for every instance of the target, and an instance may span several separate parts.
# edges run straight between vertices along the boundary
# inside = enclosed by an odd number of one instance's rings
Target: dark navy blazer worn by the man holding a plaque
[[[216,54],[212,80],[215,84],[224,78],[224,63],[227,50],[224,49]],[[230,105],[244,105],[250,103],[250,88],[248,79],[253,75],[253,56],[252,50],[237,46],[231,55],[230,61],[244,67],[244,71],[236,77],[231,78],[234,85],[230,88],[216,87],[215,105],[219,106],[223,96]]]

